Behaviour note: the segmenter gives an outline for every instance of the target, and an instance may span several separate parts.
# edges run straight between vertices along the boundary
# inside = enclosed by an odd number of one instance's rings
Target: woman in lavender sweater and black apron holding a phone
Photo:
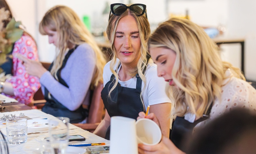
[[[29,74],[38,76],[46,103],[42,111],[65,116],[70,123],[88,116],[90,90],[102,82],[106,60],[79,16],[67,6],[46,12],[39,31],[48,35],[58,52],[47,71],[41,63],[24,59]]]

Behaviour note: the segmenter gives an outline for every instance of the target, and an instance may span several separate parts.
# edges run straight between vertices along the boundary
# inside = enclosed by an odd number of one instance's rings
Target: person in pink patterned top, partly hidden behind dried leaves
[[[10,11],[5,0],[0,0],[0,9],[2,7]],[[11,11],[10,19],[12,19]],[[34,39],[24,32],[19,40],[14,43],[13,50],[10,53],[13,58],[8,58],[6,63],[0,66],[5,74],[12,75],[5,82],[0,82],[0,92],[5,96],[15,98],[20,103],[28,104],[33,101],[34,93],[40,88],[40,82],[38,77],[26,73],[22,61],[15,56],[16,53],[20,53],[31,60],[39,61]]]

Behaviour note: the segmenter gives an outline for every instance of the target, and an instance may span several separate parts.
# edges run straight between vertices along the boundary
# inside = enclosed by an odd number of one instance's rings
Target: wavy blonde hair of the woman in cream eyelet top
[[[177,88],[166,87],[167,95],[174,99],[174,115],[205,114],[215,98],[220,99],[228,68],[245,80],[239,68],[221,60],[218,46],[205,31],[187,19],[171,18],[160,24],[148,41],[148,48],[155,47],[176,53],[172,79]]]

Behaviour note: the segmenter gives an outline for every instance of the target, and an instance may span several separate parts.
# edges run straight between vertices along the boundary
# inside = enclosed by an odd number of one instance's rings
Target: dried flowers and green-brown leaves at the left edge
[[[7,54],[11,52],[13,43],[16,42],[23,34],[24,30],[20,29],[21,22],[13,19],[4,27],[4,22],[9,20],[9,11],[5,8],[0,9],[0,66],[6,61]],[[0,73],[3,70],[0,68]]]

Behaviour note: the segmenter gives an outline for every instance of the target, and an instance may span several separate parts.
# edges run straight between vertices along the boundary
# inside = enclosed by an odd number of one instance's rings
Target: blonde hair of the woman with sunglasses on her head
[[[134,9],[135,9],[135,7],[134,7]],[[140,10],[137,10],[137,12],[139,12],[139,11]],[[120,19],[122,19],[125,16],[132,16],[135,19],[135,21],[137,23],[137,26],[138,26],[138,29],[139,29],[139,37],[140,37],[140,40],[141,40],[141,48],[140,48],[141,57],[139,58],[137,66],[135,68],[133,68],[131,70],[131,72],[127,72],[127,73],[130,76],[136,76],[136,74],[138,73],[139,77],[142,79],[142,81],[146,85],[146,78],[143,74],[143,70],[144,70],[144,68],[147,67],[147,47],[146,47],[146,43],[147,43],[147,40],[148,40],[148,37],[149,37],[149,34],[150,34],[150,25],[149,25],[149,21],[147,20],[147,17],[145,16],[145,14],[142,15],[142,16],[136,16],[136,14],[133,11],[131,11],[130,9],[127,9],[120,16],[115,16],[115,15],[112,14],[110,16],[109,24],[107,26],[107,37],[108,37],[109,42],[111,43],[111,49],[112,49],[112,53],[111,53],[112,60],[110,62],[110,70],[114,74],[114,76],[116,77],[116,81],[114,82],[114,86],[110,89],[108,97],[110,97],[110,93],[114,90],[114,88],[117,86],[117,83],[118,83],[118,74],[117,74],[117,72],[115,72],[115,70],[117,68],[114,68],[117,64],[117,54],[116,54],[117,51],[116,51],[116,48],[114,46],[114,40],[115,40],[115,35],[116,35],[115,33],[116,33],[116,30],[117,30],[117,25],[118,25]],[[152,59],[150,59],[149,63],[151,63],[151,62],[152,62]],[[145,88],[145,86],[144,86],[144,88]],[[142,92],[144,91],[144,88],[142,89]],[[142,93],[140,94],[140,98],[141,98],[141,101],[143,102]],[[144,104],[143,104],[143,107],[144,107]]]

